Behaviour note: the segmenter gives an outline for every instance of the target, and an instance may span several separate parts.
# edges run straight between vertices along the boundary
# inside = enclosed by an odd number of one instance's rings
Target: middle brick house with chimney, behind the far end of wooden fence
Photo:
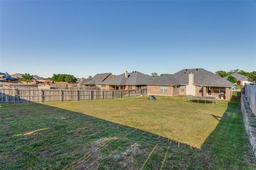
[[[146,89],[146,83],[153,80],[153,77],[141,72],[133,71],[115,76],[114,78],[103,81],[101,84],[109,90],[128,90],[128,89]]]

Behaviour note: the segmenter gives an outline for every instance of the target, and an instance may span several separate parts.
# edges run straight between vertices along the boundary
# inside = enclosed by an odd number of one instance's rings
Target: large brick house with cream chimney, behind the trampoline
[[[193,95],[220,98],[225,94],[229,100],[233,83],[204,69],[184,69],[172,75],[158,77],[147,83],[149,94],[163,96]]]

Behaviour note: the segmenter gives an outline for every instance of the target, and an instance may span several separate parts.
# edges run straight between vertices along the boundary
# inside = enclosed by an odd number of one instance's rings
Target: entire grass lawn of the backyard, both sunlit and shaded
[[[0,169],[256,169],[236,97],[1,106]]]

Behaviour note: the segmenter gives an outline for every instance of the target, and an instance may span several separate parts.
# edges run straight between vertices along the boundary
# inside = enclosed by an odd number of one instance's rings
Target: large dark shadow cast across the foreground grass
[[[250,168],[254,162],[252,154],[249,153],[249,142],[241,115],[236,113],[237,102],[234,100],[235,98],[229,102],[217,128],[205,140],[202,149],[139,129],[39,103],[4,105],[1,109],[9,109],[0,114],[0,127],[4,127],[0,131],[0,135],[4,136],[0,139],[0,167]],[[26,136],[13,136],[44,128],[49,129]]]

